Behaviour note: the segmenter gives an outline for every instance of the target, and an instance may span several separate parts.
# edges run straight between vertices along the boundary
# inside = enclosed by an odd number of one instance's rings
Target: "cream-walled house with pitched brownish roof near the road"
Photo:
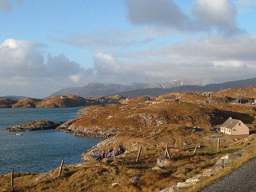
[[[220,132],[228,135],[249,135],[249,128],[241,120],[230,117],[220,126]]]

